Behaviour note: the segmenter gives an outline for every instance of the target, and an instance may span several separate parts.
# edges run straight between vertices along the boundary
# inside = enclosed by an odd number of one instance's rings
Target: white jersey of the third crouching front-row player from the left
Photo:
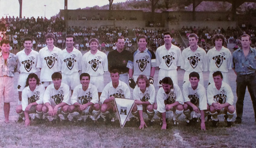
[[[82,85],[77,85],[73,91],[71,97],[71,104],[78,102],[81,105],[84,105],[88,102],[93,104],[99,103],[99,95],[95,85],[89,84],[86,91],[83,90]]]

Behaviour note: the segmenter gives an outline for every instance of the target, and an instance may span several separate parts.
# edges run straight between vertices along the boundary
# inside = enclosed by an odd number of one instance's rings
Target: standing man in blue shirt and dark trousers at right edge
[[[243,34],[241,36],[241,48],[233,53],[232,68],[236,77],[236,121],[242,122],[244,94],[246,86],[253,102],[254,118],[256,121],[256,49],[250,47],[250,36]]]

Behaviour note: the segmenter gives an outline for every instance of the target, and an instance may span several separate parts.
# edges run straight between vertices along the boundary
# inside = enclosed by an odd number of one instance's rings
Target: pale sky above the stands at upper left
[[[125,2],[126,0],[114,0],[113,3]],[[104,6],[108,0],[68,0],[67,9],[78,9],[93,6]],[[44,6],[46,5],[46,6]],[[45,17],[50,18],[64,9],[64,0],[23,0],[22,17]],[[9,15],[19,17],[20,4],[18,0],[0,0],[0,17]]]

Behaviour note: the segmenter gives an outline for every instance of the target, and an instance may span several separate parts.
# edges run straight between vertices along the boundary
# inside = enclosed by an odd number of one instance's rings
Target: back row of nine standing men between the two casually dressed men
[[[172,45],[172,36],[169,32],[164,33],[165,45],[157,48],[156,56],[154,52],[146,48],[147,37],[140,35],[138,37],[139,48],[130,54],[129,51],[123,50],[124,39],[117,38],[117,50],[111,51],[108,58],[105,53],[98,50],[99,42],[97,39],[91,39],[90,51],[82,54],[73,47],[75,37],[67,35],[66,49],[56,48],[53,43],[55,37],[53,34],[46,35],[47,47],[38,52],[31,50],[32,40],[25,39],[25,49],[17,53],[19,61],[20,76],[18,80],[19,101],[21,100],[22,90],[25,87],[28,74],[37,72],[41,69],[41,82],[47,87],[52,83],[51,76],[56,71],[61,71],[62,82],[66,83],[71,92],[79,85],[79,71],[90,74],[90,83],[98,89],[99,97],[104,88],[104,71],[118,69],[120,80],[129,82],[131,88],[135,87],[134,80],[140,74],[144,74],[149,82],[154,83],[155,67],[159,66],[158,85],[162,85],[161,80],[164,77],[171,77],[173,83],[177,85],[177,70],[185,70],[184,82],[189,80],[189,74],[195,71],[200,76],[200,83],[203,84],[202,71],[208,70],[209,63],[209,83],[213,82],[212,73],[221,71],[224,82],[227,82],[227,71],[231,69],[231,53],[223,47],[224,36],[216,34],[213,40],[215,47],[208,52],[208,57],[204,49],[197,46],[198,37],[196,34],[189,35],[189,48],[184,49],[181,54],[180,48]],[[128,80],[129,75],[129,80]],[[199,77],[198,77],[199,80]],[[108,96],[111,97],[111,96]]]

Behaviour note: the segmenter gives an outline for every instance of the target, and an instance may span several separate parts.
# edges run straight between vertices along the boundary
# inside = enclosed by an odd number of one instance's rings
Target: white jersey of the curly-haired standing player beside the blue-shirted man
[[[221,71],[228,72],[232,69],[232,54],[228,48],[222,46],[220,51],[217,51],[215,47],[207,52],[208,67],[210,72]]]

